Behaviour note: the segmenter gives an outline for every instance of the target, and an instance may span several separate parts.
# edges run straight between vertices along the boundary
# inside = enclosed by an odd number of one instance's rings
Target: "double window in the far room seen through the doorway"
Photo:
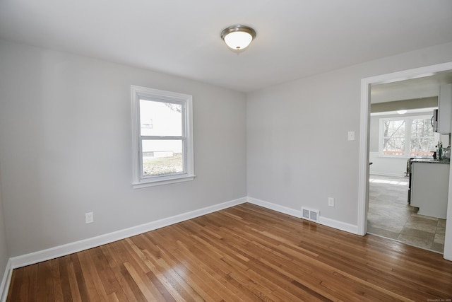
[[[429,116],[380,119],[380,156],[431,156],[435,150]]]

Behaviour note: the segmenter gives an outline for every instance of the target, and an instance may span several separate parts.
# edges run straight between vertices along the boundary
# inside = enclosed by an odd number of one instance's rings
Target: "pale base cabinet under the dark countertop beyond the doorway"
[[[448,163],[411,164],[411,205],[418,214],[446,219],[449,185]]]

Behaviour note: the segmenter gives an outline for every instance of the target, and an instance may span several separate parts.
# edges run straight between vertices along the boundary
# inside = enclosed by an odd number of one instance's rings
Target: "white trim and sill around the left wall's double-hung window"
[[[185,148],[184,159],[186,161],[185,173],[163,175],[152,178],[143,178],[141,175],[141,149],[140,149],[140,97],[167,100],[169,102],[184,103],[184,129]],[[162,91],[153,88],[131,85],[132,108],[132,172],[134,189],[152,187],[155,185],[167,185],[174,182],[186,182],[194,180],[194,143],[193,143],[193,97],[188,94]]]

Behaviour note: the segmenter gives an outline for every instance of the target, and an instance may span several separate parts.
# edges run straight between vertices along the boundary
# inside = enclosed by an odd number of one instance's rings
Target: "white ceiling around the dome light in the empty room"
[[[239,55],[234,24],[257,33]],[[452,42],[452,1],[0,0],[0,38],[246,92]]]

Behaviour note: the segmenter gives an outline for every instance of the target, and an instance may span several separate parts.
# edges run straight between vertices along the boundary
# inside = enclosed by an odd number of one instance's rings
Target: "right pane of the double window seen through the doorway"
[[[430,119],[412,120],[411,156],[429,156],[435,149],[433,127]]]

